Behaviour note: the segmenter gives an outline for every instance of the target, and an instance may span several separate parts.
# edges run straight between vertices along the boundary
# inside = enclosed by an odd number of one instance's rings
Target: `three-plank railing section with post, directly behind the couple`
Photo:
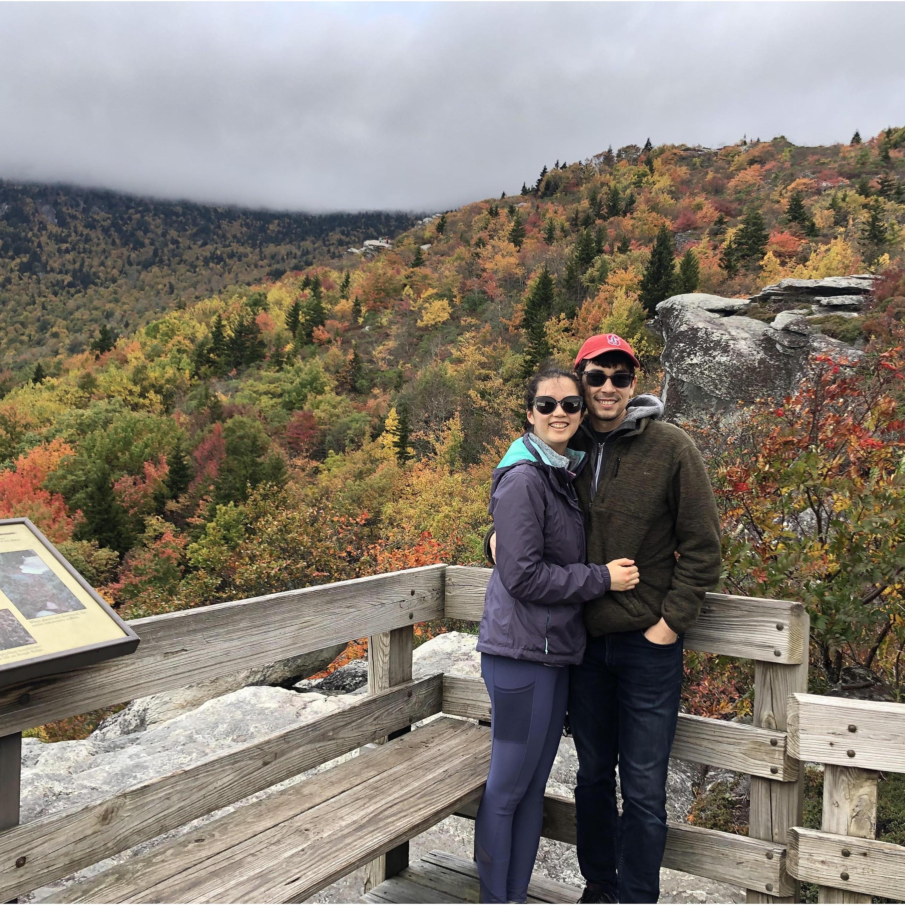
[[[446,615],[481,619],[491,569],[446,569]],[[804,784],[786,738],[788,696],[807,689],[809,622],[805,608],[783,600],[710,594],[685,647],[755,662],[754,725],[681,714],[672,756],[751,775],[748,836],[669,824],[664,867],[733,883],[749,902],[793,901],[786,834],[802,823]],[[444,676],[443,712],[488,719],[490,699],[476,679]],[[474,808],[472,807],[472,812]],[[575,803],[548,795],[544,834],[575,843]]]

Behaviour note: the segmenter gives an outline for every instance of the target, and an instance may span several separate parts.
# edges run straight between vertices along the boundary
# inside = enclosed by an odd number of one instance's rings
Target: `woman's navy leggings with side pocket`
[[[523,902],[540,843],[544,790],[566,720],[568,670],[481,654],[491,696],[491,771],[474,823],[482,902]]]

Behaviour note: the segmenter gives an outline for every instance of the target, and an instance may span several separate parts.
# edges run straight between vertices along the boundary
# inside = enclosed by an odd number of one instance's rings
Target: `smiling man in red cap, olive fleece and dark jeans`
[[[655,902],[682,634],[719,581],[719,519],[691,438],[659,420],[655,396],[632,397],[640,367],[632,347],[612,333],[591,337],[575,367],[587,418],[569,446],[590,458],[576,480],[587,561],[627,557],[641,576],[632,591],[586,605],[585,659],[569,677],[576,847],[586,881],[579,901]]]

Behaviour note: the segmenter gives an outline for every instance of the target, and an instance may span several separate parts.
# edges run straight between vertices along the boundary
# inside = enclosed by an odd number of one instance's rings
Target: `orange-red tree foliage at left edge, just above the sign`
[[[0,519],[32,519],[52,543],[69,540],[81,513],[71,516],[62,496],[45,491],[42,484],[71,454],[71,448],[57,439],[19,456],[14,472],[0,472]]]

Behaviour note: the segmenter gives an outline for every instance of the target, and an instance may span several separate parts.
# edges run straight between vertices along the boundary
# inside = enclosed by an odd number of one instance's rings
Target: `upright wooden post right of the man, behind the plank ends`
[[[754,725],[764,729],[788,728],[786,717],[788,696],[794,691],[807,691],[807,654],[810,621],[804,614],[805,653],[803,662],[786,665],[757,661],[754,664]],[[752,839],[786,846],[786,834],[792,826],[801,826],[805,804],[805,772],[799,770],[794,783],[778,782],[751,776],[751,807],[748,835]],[[790,878],[791,880],[791,878]],[[771,895],[767,884],[763,890],[746,891],[748,902],[794,902],[800,900],[798,882],[794,896]]]

